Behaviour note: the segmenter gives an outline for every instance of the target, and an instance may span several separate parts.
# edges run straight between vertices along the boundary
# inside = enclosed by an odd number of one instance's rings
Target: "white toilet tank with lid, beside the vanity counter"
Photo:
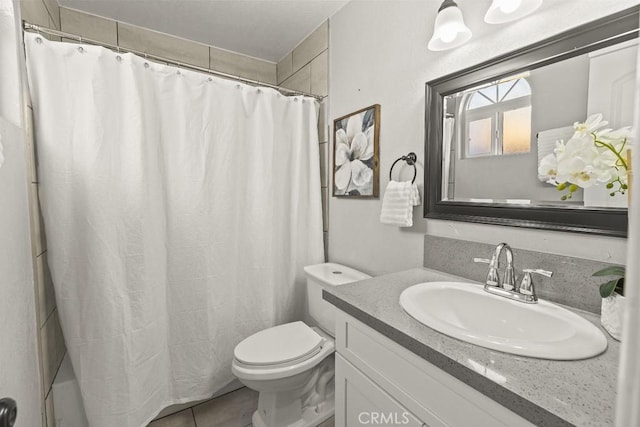
[[[309,315],[324,331],[335,336],[336,308],[322,299],[322,289],[369,279],[371,276],[344,265],[327,262],[304,268],[307,275]]]

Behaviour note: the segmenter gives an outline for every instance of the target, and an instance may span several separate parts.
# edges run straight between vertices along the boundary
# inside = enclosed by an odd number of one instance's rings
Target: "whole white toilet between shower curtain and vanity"
[[[231,370],[259,393],[255,427],[312,427],[334,414],[335,307],[322,289],[371,276],[335,263],[310,265],[307,301],[318,326],[292,322],[257,332],[238,344]]]

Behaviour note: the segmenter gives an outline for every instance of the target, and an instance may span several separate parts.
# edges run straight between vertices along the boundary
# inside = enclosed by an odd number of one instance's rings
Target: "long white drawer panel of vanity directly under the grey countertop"
[[[343,312],[336,319],[339,355],[430,427],[533,427],[362,322]]]

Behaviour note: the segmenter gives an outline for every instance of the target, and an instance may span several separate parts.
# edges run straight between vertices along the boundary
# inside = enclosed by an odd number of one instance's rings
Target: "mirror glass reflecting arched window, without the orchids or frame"
[[[607,127],[633,124],[636,53],[625,41],[444,96],[442,200],[626,207],[604,185],[562,200],[538,169],[575,122],[601,113]]]

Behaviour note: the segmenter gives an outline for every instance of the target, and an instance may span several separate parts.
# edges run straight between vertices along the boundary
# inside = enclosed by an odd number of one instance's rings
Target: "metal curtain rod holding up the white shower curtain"
[[[269,88],[275,89],[275,90],[277,90],[279,92],[282,92],[283,94],[286,94],[286,95],[308,96],[310,98],[315,98],[318,101],[322,101],[324,99],[324,96],[314,95],[312,93],[307,93],[307,92],[302,92],[302,91],[297,91],[297,90],[292,90],[292,89],[287,89],[285,87],[273,85],[271,83],[261,82],[259,80],[251,80],[251,79],[247,79],[247,78],[244,78],[244,77],[236,76],[236,75],[233,75],[233,74],[227,74],[227,73],[223,73],[221,71],[215,71],[215,70],[211,70],[209,68],[199,67],[197,65],[185,64],[184,62],[178,62],[178,61],[176,61],[174,59],[165,58],[165,57],[158,56],[158,55],[153,55],[153,54],[150,54],[150,53],[147,53],[147,52],[143,52],[143,51],[140,51],[140,50],[129,49],[129,48],[126,48],[126,47],[121,47],[121,46],[117,46],[117,45],[101,42],[101,41],[98,41],[98,40],[88,39],[86,37],[81,37],[81,36],[78,36],[76,34],[71,34],[71,33],[66,33],[64,31],[58,31],[58,30],[54,30],[54,29],[51,29],[51,28],[41,27],[39,25],[31,24],[30,22],[27,22],[27,21],[22,21],[22,28],[25,31],[31,30],[31,31],[35,31],[36,33],[49,34],[49,35],[56,36],[56,37],[64,37],[64,38],[67,38],[67,39],[75,40],[75,41],[80,42],[80,43],[88,43],[88,44],[92,44],[92,45],[96,45],[96,46],[102,46],[102,47],[105,47],[107,49],[115,50],[117,52],[133,53],[134,55],[142,56],[145,59],[151,59],[151,60],[154,60],[154,61],[166,62],[167,64],[176,65],[176,66],[178,66],[180,68],[186,68],[186,69],[189,69],[189,70],[195,70],[195,71],[201,71],[203,73],[213,74],[213,75],[225,78],[225,79],[235,80],[235,81],[239,81],[239,82],[242,82],[242,83],[246,83],[246,84],[251,85],[251,86],[269,87]]]

